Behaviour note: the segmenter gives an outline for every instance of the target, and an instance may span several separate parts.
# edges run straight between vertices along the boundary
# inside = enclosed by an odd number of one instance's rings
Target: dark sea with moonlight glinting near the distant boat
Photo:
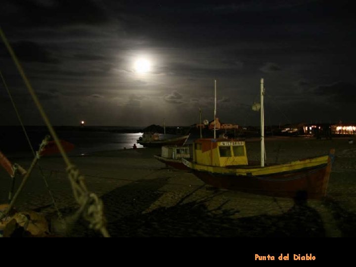
[[[45,126],[25,126],[35,151],[49,131]],[[143,130],[131,126],[57,126],[54,130],[59,139],[74,144],[70,156],[80,156],[97,151],[130,149],[137,143]],[[21,126],[0,126],[0,151],[6,157],[32,157],[32,150]]]

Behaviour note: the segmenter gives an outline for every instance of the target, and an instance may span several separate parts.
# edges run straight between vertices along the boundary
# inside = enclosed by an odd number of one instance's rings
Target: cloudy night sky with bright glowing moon
[[[0,27],[53,125],[356,123],[352,1],[2,0]],[[143,62],[138,64],[138,62]],[[138,65],[137,65],[138,64]],[[0,71],[43,125],[5,46]],[[18,125],[0,85],[0,125]]]

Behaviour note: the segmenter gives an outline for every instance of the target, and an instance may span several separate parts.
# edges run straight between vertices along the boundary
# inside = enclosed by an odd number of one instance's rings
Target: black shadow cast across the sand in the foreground
[[[207,203],[219,192],[200,200],[144,213],[164,192],[158,191],[167,178],[144,179],[116,188],[102,196],[107,229],[112,237],[325,237],[323,222],[316,210],[308,206],[303,192],[294,205],[281,215],[258,215],[233,218],[239,211],[223,205],[209,210]],[[332,200],[324,202],[332,210],[343,236],[355,236],[356,216]],[[68,210],[66,210],[67,214]],[[67,232],[74,237],[99,237],[82,219]]]

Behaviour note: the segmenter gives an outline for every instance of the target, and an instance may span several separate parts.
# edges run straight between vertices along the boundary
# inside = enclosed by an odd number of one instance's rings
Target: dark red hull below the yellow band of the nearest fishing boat
[[[240,175],[237,173],[238,168],[229,173],[197,170],[191,162],[183,161],[191,168],[196,177],[214,187],[292,198],[299,195],[300,192],[304,192],[308,198],[320,199],[326,195],[332,157],[333,152],[327,157],[324,164],[266,175]]]

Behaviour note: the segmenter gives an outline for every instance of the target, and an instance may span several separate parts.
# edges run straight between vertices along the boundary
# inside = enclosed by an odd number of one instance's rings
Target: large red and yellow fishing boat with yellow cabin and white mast
[[[328,155],[265,166],[264,110],[265,89],[261,79],[261,164],[249,163],[246,143],[239,139],[199,138],[193,141],[192,159],[182,163],[206,184],[250,193],[296,197],[306,192],[318,199],[326,194],[335,150]],[[256,108],[257,105],[253,109]]]

